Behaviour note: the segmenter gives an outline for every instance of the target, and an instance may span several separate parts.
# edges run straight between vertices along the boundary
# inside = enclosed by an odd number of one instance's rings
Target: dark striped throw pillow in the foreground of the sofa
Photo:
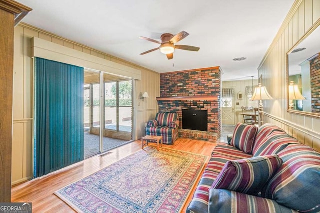
[[[211,188],[257,195],[281,164],[277,155],[228,161]]]

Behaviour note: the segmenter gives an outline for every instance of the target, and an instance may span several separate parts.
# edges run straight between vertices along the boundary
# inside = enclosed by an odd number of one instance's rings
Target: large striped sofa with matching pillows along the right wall
[[[238,123],[212,151],[187,213],[320,212],[320,154],[272,124]]]

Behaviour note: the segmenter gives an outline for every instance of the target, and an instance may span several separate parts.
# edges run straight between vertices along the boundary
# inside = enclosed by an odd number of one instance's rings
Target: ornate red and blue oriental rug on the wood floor
[[[145,147],[55,195],[77,212],[178,213],[206,156]]]

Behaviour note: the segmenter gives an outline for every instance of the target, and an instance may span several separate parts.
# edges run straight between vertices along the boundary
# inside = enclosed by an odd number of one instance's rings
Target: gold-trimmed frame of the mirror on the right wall
[[[316,29],[320,25],[320,19],[318,19],[309,29],[302,35],[300,39],[298,39],[295,44],[285,53],[285,86],[286,86],[286,111],[293,114],[298,115],[304,115],[309,116],[313,118],[320,118],[320,113],[314,113],[314,112],[304,112],[299,110],[293,110],[289,109],[289,94],[288,94],[288,86],[289,86],[289,54],[293,49],[296,48],[297,45],[299,45],[309,34],[313,32],[314,29]],[[319,26],[320,27],[320,26]],[[320,50],[319,50],[320,51]]]

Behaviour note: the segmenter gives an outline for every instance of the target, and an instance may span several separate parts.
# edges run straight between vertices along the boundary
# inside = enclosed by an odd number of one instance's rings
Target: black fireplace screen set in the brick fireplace
[[[207,125],[206,110],[182,109],[182,129],[207,131]]]

